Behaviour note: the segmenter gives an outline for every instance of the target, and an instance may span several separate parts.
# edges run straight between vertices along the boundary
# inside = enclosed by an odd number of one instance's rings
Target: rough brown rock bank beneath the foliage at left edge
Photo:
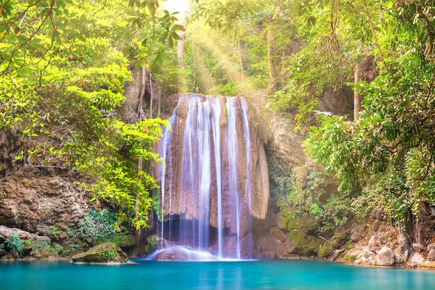
[[[0,223],[47,235],[52,225],[77,223],[88,208],[85,178],[64,169],[22,167],[0,182]]]

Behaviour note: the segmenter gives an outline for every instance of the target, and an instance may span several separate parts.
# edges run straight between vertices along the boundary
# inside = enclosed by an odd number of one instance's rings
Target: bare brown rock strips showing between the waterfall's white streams
[[[177,94],[176,96],[185,96],[186,98],[190,97],[190,94]],[[201,95],[197,95],[197,94],[193,94],[192,96],[201,96]],[[175,96],[171,97],[172,99],[175,98]],[[202,98],[204,98],[205,101],[205,96],[202,96]],[[177,111],[177,117],[175,118],[174,121],[174,127],[172,128],[172,144],[171,146],[171,167],[172,169],[174,169],[174,172],[172,173],[172,182],[170,181],[170,178],[166,178],[165,182],[165,188],[167,191],[172,191],[174,192],[174,196],[175,199],[169,201],[169,196],[166,195],[165,196],[165,209],[167,209],[168,214],[184,214],[186,216],[186,219],[198,219],[198,215],[195,212],[192,212],[189,208],[189,204],[195,204],[198,201],[195,199],[195,197],[190,197],[190,196],[186,196],[186,198],[184,198],[183,200],[181,200],[179,198],[179,196],[181,196],[180,194],[177,193],[181,193],[181,191],[186,190],[186,189],[190,189],[191,187],[184,187],[183,182],[186,183],[186,179],[183,178],[183,175],[186,174],[186,172],[183,172],[183,168],[182,168],[182,164],[187,158],[186,151],[190,151],[192,154],[197,154],[197,148],[195,148],[195,144],[193,145],[188,145],[188,144],[184,144],[184,142],[186,142],[186,137],[185,137],[185,130],[186,130],[186,119],[188,118],[188,104],[187,104],[187,99],[183,99],[181,101],[181,103],[179,103],[179,105],[176,108]],[[225,130],[227,129],[228,123],[227,123],[227,109],[225,108],[225,98],[224,97],[219,97],[219,102],[221,104],[221,111],[222,113],[220,114],[220,119],[219,119],[219,123],[220,123],[220,159],[221,159],[221,167],[222,167],[222,190],[223,190],[223,196],[224,196],[224,201],[223,204],[229,204],[231,203],[231,194],[229,194],[228,192],[231,190],[229,188],[229,178],[231,178],[229,176],[229,164],[228,164],[228,160],[227,160],[227,155],[228,153],[228,145],[227,143],[224,141],[226,137],[226,132]],[[249,157],[250,157],[250,164],[247,164],[247,160],[245,158],[245,156],[247,156],[247,152],[246,152],[246,148],[245,148],[245,142],[246,140],[243,139],[243,120],[242,118],[242,108],[240,108],[240,103],[237,103],[237,107],[235,108],[236,110],[236,131],[237,131],[237,136],[238,136],[238,143],[237,143],[237,164],[236,164],[236,168],[237,168],[237,180],[238,180],[238,184],[237,184],[237,191],[243,192],[245,191],[245,183],[247,180],[247,169],[249,167],[249,171],[250,171],[250,180],[252,181],[252,216],[255,216],[258,219],[264,219],[265,215],[267,213],[268,210],[268,199],[269,199],[269,182],[268,182],[268,165],[267,165],[267,161],[265,159],[265,150],[264,150],[264,144],[261,141],[261,139],[258,137],[258,135],[256,134],[256,121],[255,121],[255,116],[252,113],[252,111],[248,112],[248,119],[249,119],[249,142],[251,144],[251,150],[249,152]],[[190,129],[190,130],[198,130],[196,128],[196,126],[199,126],[197,123],[195,123],[195,127]],[[210,133],[212,135],[212,133]],[[213,136],[211,136],[211,139],[213,139]],[[190,140],[192,141],[192,140]],[[195,140],[193,140],[195,141]],[[162,142],[162,141],[161,141]],[[187,148],[190,147],[190,148]],[[215,144],[211,144],[211,155],[210,158],[211,160],[207,161],[208,164],[210,164],[211,167],[211,194],[212,196],[215,196],[217,188],[216,188],[216,181],[215,181],[215,162],[216,162],[216,157],[215,157]],[[194,162],[206,162],[206,160],[194,160]],[[169,161],[167,162],[169,163]],[[192,163],[192,166],[197,168],[199,167],[198,163]],[[188,172],[187,172],[188,173]],[[195,172],[194,172],[195,174]],[[195,189],[199,188],[199,183],[201,182],[200,180],[198,180],[199,175],[197,175],[197,179],[195,179],[192,183],[194,183],[194,185],[192,185],[192,187]],[[192,198],[192,199],[189,199]],[[245,196],[240,194],[240,199],[245,199]],[[242,201],[243,203],[243,201]],[[211,201],[211,208],[215,209],[217,208],[217,200],[216,198],[212,198]],[[183,208],[186,209],[183,211]],[[230,213],[228,213],[230,214]],[[215,219],[213,219],[212,217],[212,225],[216,226],[217,223],[215,222]]]

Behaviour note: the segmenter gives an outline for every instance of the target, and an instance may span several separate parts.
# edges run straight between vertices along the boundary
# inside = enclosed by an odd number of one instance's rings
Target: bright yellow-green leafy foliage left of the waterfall
[[[158,161],[165,121],[123,123],[113,110],[129,63],[149,66],[180,30],[156,0],[0,1],[0,127],[23,144],[14,161],[88,173],[117,228],[147,226],[158,185],[138,160]]]

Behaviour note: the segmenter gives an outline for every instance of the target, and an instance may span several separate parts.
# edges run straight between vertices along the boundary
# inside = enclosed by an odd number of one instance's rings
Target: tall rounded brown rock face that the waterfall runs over
[[[234,237],[249,235],[252,218],[265,219],[268,212],[268,164],[256,117],[239,98],[178,98],[172,134],[161,140],[163,212],[199,225],[207,219],[211,227],[225,229],[231,237],[225,247],[231,248]],[[240,250],[252,247],[247,244]]]

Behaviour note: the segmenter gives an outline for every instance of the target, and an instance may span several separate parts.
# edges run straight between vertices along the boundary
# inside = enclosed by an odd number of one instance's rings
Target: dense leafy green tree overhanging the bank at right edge
[[[319,114],[321,125],[305,143],[339,178],[340,191],[356,193],[354,205],[362,212],[381,207],[402,229],[407,221],[418,229],[421,207],[435,203],[434,9],[428,2],[390,2],[382,15],[388,29],[376,31],[366,7],[379,76],[356,85],[364,96],[356,121]]]

